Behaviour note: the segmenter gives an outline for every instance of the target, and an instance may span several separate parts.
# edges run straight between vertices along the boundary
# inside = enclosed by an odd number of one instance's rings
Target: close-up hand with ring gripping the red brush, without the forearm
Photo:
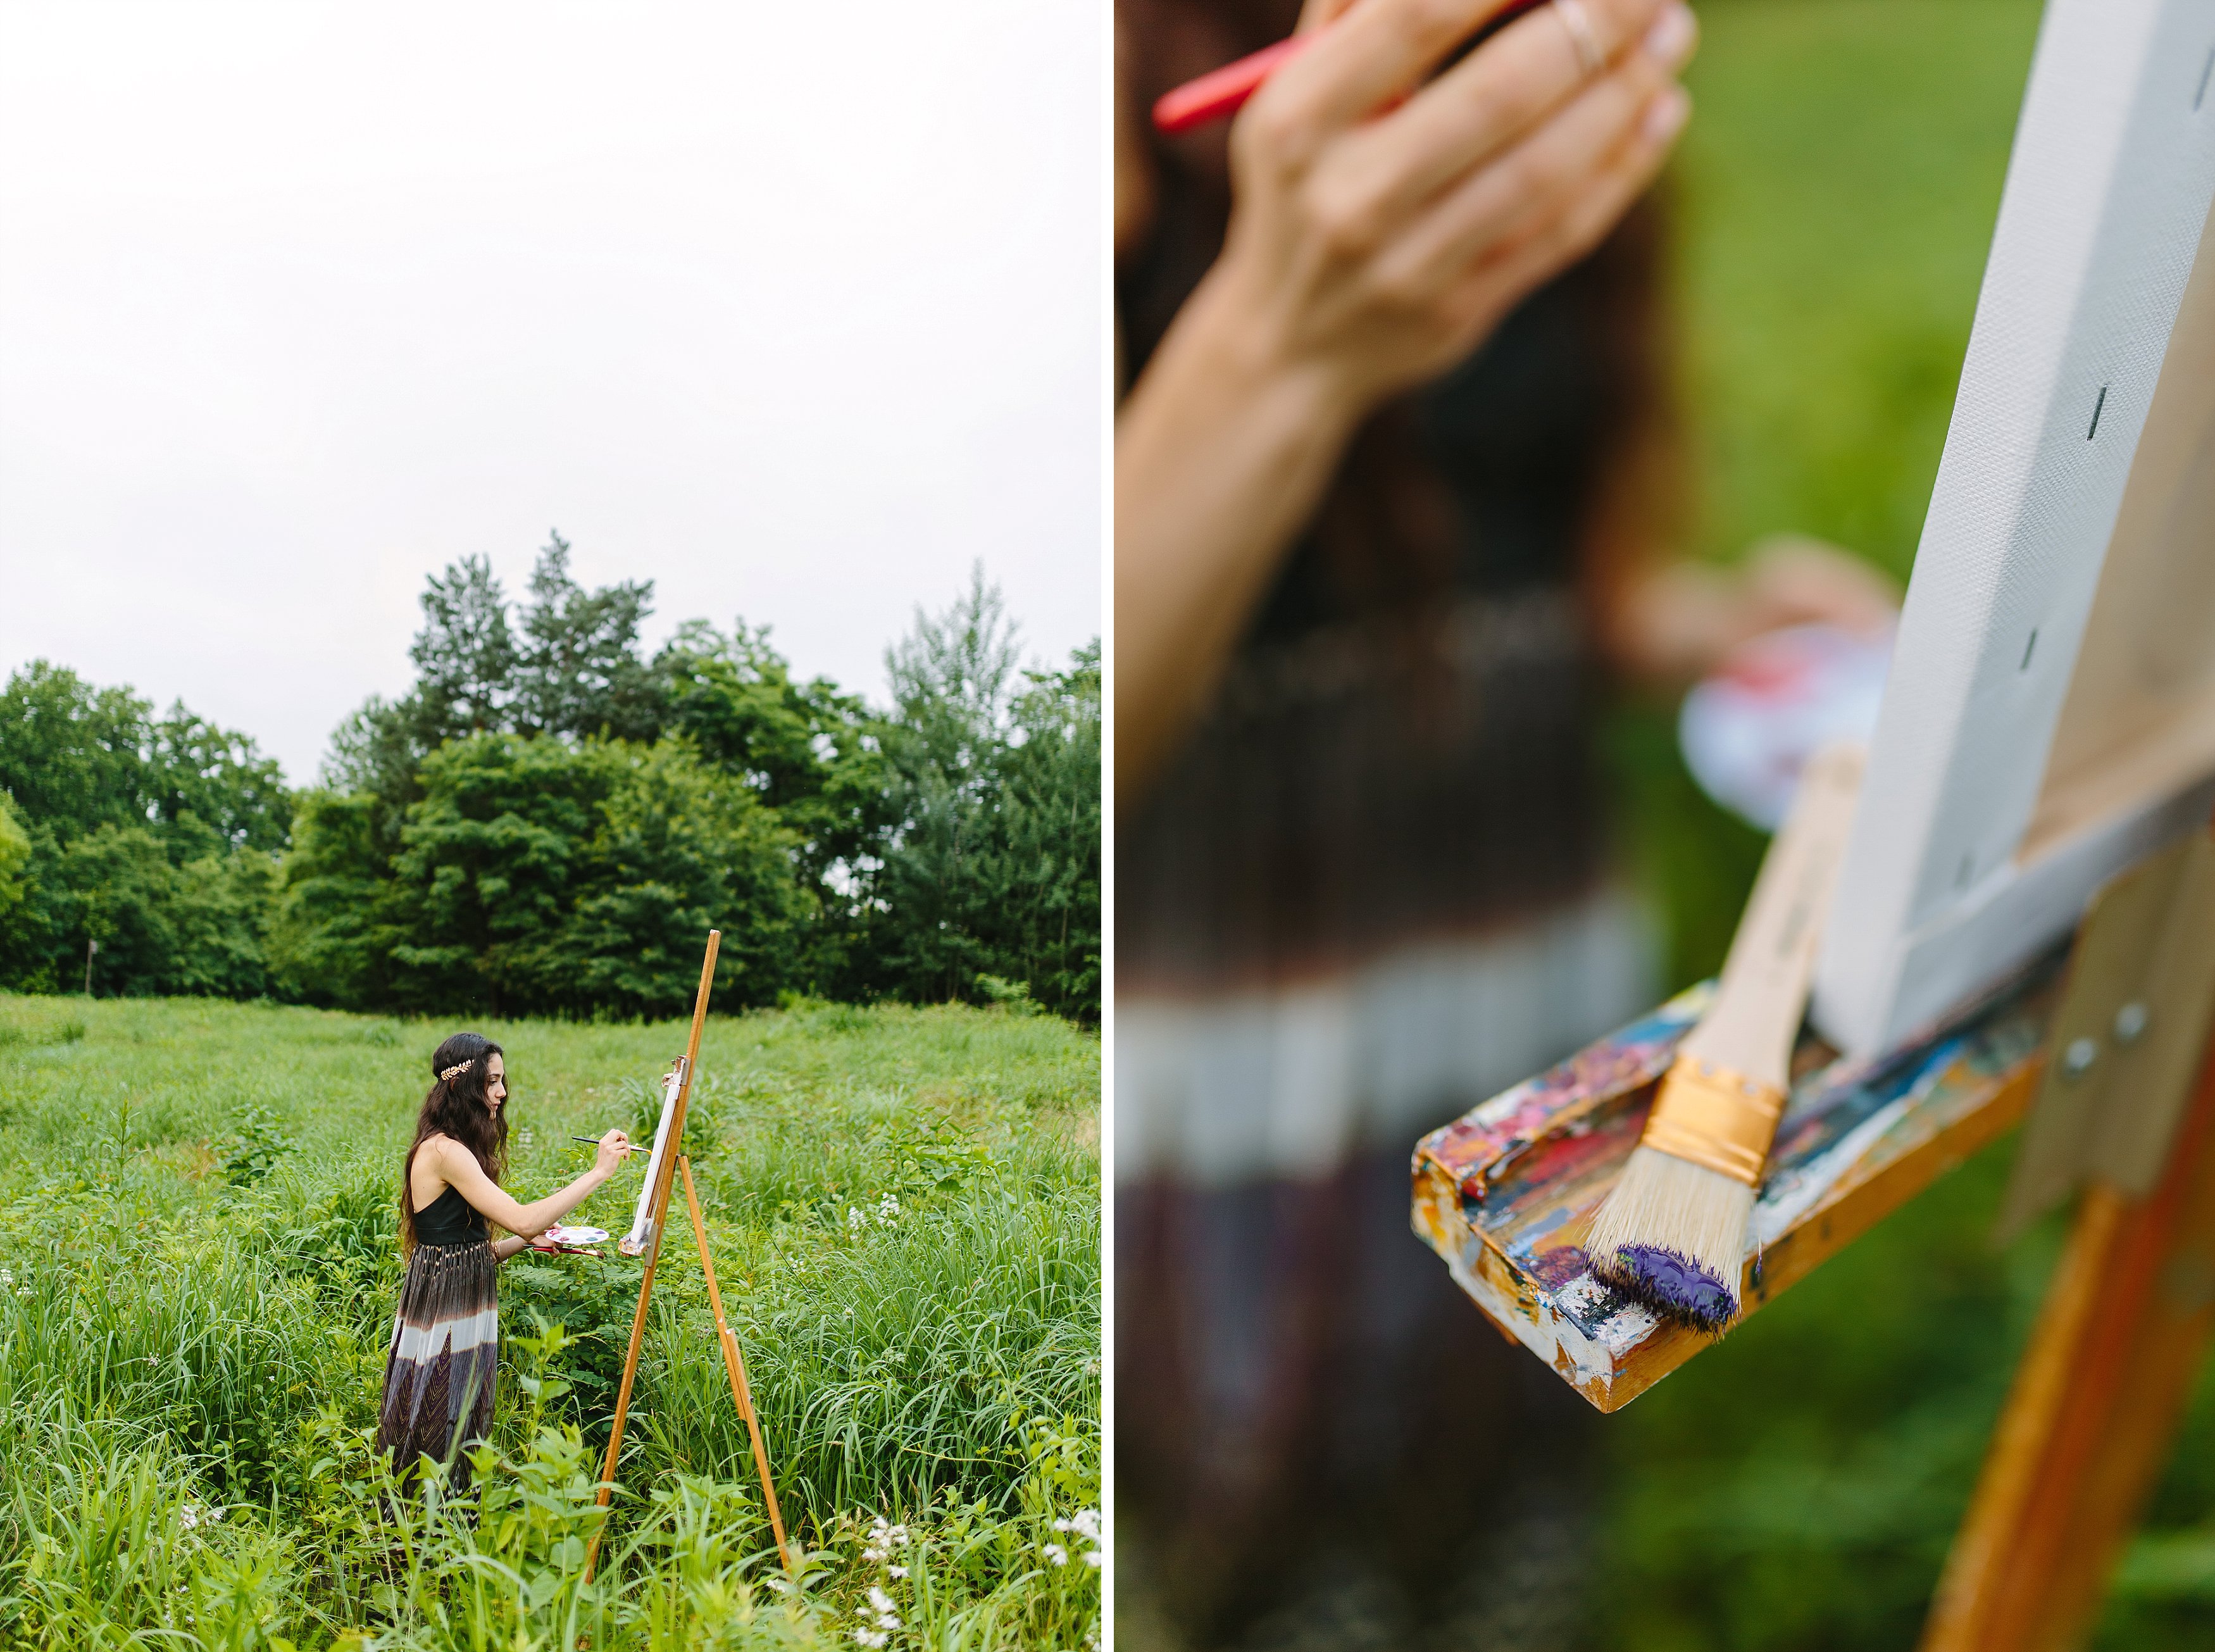
[[[1652,182],[1690,102],[1679,0],[1322,0],[1232,128],[1207,306],[1345,419],[1455,361]],[[1435,78],[1433,78],[1435,75]],[[1382,111],[1382,113],[1380,113]]]

